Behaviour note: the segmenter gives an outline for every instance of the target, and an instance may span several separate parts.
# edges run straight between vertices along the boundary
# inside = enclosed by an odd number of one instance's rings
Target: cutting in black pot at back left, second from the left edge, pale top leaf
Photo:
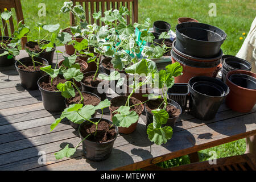
[[[39,57],[42,57],[48,61],[49,64],[52,64],[54,51],[56,50],[56,37],[57,34],[55,34],[55,31],[58,30],[60,27],[60,24],[42,24],[42,23],[36,23],[35,29],[38,30],[38,38],[34,38],[34,41],[27,42],[25,45],[25,49],[28,52],[28,54],[31,56],[31,52],[34,55],[38,55]],[[43,36],[42,38],[42,30],[47,31],[47,34]],[[51,34],[51,40],[44,40]]]

